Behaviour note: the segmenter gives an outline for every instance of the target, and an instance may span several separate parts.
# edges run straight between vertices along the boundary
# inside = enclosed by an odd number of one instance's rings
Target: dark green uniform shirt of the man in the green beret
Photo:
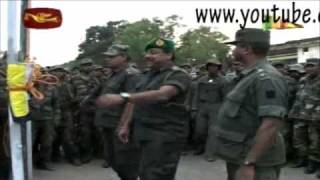
[[[168,102],[136,105],[134,118],[138,140],[184,141],[188,134],[186,96],[191,83],[189,75],[176,66],[158,72],[148,71],[137,83],[138,92],[158,90],[172,85],[178,94]]]

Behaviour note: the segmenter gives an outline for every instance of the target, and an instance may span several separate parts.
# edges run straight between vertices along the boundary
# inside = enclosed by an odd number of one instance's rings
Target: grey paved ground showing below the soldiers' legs
[[[56,170],[34,171],[34,180],[119,180],[110,169],[101,168],[101,160],[81,167],[66,163],[55,165]],[[222,161],[205,162],[199,156],[184,156],[179,165],[176,180],[225,180],[226,171]],[[302,169],[284,168],[280,180],[317,180],[314,175],[305,175]]]

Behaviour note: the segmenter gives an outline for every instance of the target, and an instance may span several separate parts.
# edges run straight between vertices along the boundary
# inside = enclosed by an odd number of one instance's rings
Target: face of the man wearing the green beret
[[[171,61],[172,54],[165,53],[160,48],[152,48],[144,55],[147,66],[151,69],[159,69],[168,61]]]

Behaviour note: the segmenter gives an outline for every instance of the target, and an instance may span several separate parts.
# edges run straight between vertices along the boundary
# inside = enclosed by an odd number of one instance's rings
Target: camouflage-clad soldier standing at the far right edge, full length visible
[[[300,157],[296,167],[305,165],[307,159],[305,173],[318,169],[320,178],[320,59],[307,59],[305,70],[307,76],[300,82],[298,97],[290,112],[291,117],[300,120],[294,126],[294,145]]]

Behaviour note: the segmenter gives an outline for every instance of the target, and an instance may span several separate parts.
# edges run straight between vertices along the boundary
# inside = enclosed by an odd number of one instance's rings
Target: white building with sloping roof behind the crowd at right
[[[271,45],[268,59],[287,64],[304,63],[308,58],[320,58],[320,36]]]

